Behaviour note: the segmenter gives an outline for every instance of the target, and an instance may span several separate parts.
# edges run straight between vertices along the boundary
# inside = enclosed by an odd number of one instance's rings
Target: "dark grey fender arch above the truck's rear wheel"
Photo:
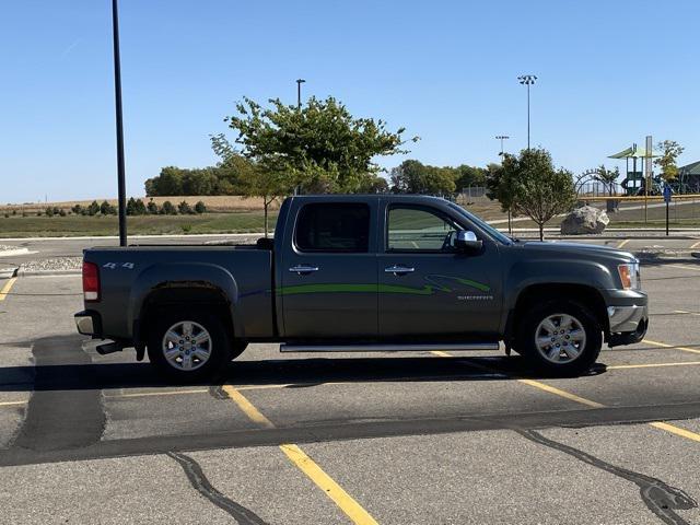
[[[206,262],[165,262],[149,266],[133,282],[129,294],[129,326],[141,317],[148,296],[164,288],[213,288],[228,301],[233,319],[234,337],[243,337],[240,317],[238,285],[233,275],[218,265]]]

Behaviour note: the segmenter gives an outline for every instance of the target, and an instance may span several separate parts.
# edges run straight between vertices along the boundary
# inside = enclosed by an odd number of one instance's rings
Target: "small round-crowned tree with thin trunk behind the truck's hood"
[[[540,241],[545,238],[545,224],[573,208],[576,192],[572,174],[556,170],[545,149],[523,150],[518,156],[505,154],[499,172],[497,195],[504,198],[505,209],[537,223]]]

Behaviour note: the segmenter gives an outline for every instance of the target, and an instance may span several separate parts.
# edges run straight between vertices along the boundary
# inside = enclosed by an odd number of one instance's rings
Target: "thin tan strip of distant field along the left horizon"
[[[257,197],[244,198],[237,195],[217,195],[217,196],[173,196],[173,197],[140,197],[133,196],[135,199],[141,199],[143,202],[147,202],[151,199],[161,206],[166,200],[170,200],[172,203],[177,206],[183,200],[189,203],[190,206],[195,206],[198,200],[201,200],[209,211],[212,212],[230,212],[230,211],[256,211],[262,210],[262,199]],[[12,213],[13,210],[16,210],[18,213],[25,211],[30,213],[36,213],[37,211],[44,211],[48,207],[57,207],[63,210],[70,210],[73,206],[80,205],[83,207],[90,206],[90,203],[96,200],[97,203],[102,203],[102,201],[106,200],[110,205],[117,206],[117,199],[89,199],[89,200],[68,200],[60,202],[32,202],[25,205],[0,205],[0,213]],[[279,208],[278,202],[273,202],[270,206],[271,209],[277,210]]]

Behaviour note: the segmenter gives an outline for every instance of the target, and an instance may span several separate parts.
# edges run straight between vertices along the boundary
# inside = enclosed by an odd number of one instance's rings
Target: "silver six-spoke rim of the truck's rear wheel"
[[[211,336],[199,323],[180,320],[163,336],[163,355],[176,370],[191,372],[203,366],[211,357]]]

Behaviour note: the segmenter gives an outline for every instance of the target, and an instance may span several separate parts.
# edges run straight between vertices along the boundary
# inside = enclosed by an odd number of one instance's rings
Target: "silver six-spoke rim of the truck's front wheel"
[[[585,350],[586,331],[573,315],[553,314],[537,325],[535,347],[550,363],[567,364]]]

